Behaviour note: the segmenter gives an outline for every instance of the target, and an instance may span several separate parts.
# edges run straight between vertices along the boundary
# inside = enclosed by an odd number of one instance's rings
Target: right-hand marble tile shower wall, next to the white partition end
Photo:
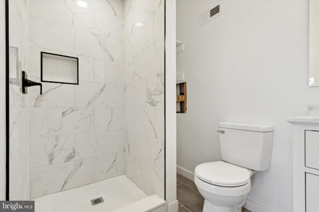
[[[164,0],[125,0],[125,174],[164,198]]]

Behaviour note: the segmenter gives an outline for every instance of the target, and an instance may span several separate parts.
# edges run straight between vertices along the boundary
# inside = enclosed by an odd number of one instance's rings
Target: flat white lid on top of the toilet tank
[[[247,130],[255,132],[272,132],[274,127],[271,125],[260,125],[260,124],[247,124],[247,123],[236,123],[236,122],[220,122],[220,128],[229,128],[236,130]]]

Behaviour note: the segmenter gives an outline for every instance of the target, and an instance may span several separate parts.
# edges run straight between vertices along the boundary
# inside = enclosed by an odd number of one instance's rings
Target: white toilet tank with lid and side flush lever
[[[221,159],[256,171],[269,169],[274,127],[219,123]]]

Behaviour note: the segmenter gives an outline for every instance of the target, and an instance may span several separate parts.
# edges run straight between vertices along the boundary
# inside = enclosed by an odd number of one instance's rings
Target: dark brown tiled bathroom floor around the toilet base
[[[196,185],[188,178],[177,174],[178,212],[202,212],[204,198],[199,194]],[[251,212],[242,209],[242,212]]]

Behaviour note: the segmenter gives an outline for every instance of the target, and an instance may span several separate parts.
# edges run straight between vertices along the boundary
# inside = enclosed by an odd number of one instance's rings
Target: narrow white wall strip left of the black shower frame
[[[0,200],[5,200],[5,1],[0,0]]]

